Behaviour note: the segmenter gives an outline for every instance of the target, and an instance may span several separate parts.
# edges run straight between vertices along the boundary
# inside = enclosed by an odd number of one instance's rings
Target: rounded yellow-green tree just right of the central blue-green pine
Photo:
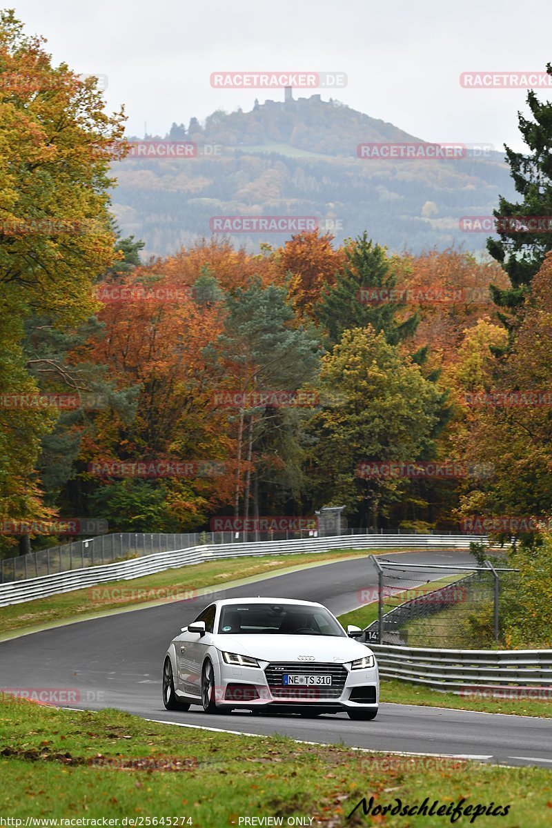
[[[408,463],[430,455],[442,394],[419,365],[371,325],[343,333],[340,343],[324,355],[320,383],[338,389],[343,402],[322,407],[310,422],[314,502],[344,504],[349,522],[377,527],[408,484],[359,475],[358,464]]]

